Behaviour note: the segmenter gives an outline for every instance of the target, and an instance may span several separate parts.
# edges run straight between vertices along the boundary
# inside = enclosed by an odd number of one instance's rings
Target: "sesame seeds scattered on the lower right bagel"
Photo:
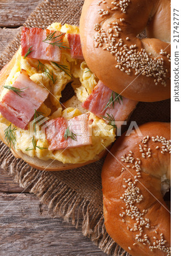
[[[142,148],[141,144],[138,145],[139,149],[142,150],[141,154],[142,157],[146,159],[146,156],[151,157],[151,147],[148,147],[148,141],[149,141],[149,136],[147,135],[146,137],[144,137],[144,139],[141,141],[144,144],[144,147]],[[164,151],[166,154],[168,150],[168,152],[170,152],[170,141],[168,141],[167,139],[163,138],[163,137],[159,137],[157,135],[157,137],[155,138],[151,138],[152,140],[154,139],[154,142],[157,143],[162,143],[162,152]],[[159,146],[158,146],[159,147]],[[144,153],[145,152],[145,153]],[[166,240],[164,240],[163,238],[163,234],[160,235],[160,240],[158,240],[156,237],[154,237],[154,242],[151,243],[151,241],[148,240],[148,236],[147,234],[145,234],[145,230],[146,229],[150,229],[150,220],[149,218],[145,218],[144,214],[146,214],[148,212],[147,209],[142,210],[142,212],[138,209],[138,207],[135,205],[136,203],[139,204],[143,199],[144,196],[141,194],[140,188],[136,187],[136,183],[138,181],[138,179],[141,177],[141,160],[140,158],[133,158],[133,151],[129,151],[128,154],[124,154],[123,156],[121,156],[121,161],[125,162],[125,163],[131,163],[129,164],[129,167],[132,167],[132,169],[135,168],[136,170],[136,174],[134,175],[134,181],[132,181],[131,178],[127,178],[127,179],[123,179],[125,184],[123,184],[123,188],[125,188],[125,191],[123,193],[123,195],[120,197],[120,199],[123,200],[123,202],[125,203],[125,209],[122,207],[121,209],[123,209],[123,212],[120,213],[120,217],[121,220],[124,222],[125,220],[123,219],[123,216],[128,216],[130,217],[132,220],[135,220],[136,223],[134,223],[131,227],[127,226],[127,229],[130,232],[135,232],[137,230],[139,230],[139,234],[136,234],[135,237],[135,241],[142,243],[143,245],[149,244],[149,248],[150,251],[153,249],[159,249],[162,250],[164,252],[167,251],[167,255],[170,255],[170,247],[166,247],[165,243]],[[128,165],[127,165],[128,167]],[[123,167],[124,168],[124,167]],[[124,168],[125,169],[125,168]],[[154,228],[154,226],[151,226],[151,228]],[[157,234],[158,232],[156,230],[154,230],[155,234]],[[133,243],[133,245],[136,245],[136,243]]]

